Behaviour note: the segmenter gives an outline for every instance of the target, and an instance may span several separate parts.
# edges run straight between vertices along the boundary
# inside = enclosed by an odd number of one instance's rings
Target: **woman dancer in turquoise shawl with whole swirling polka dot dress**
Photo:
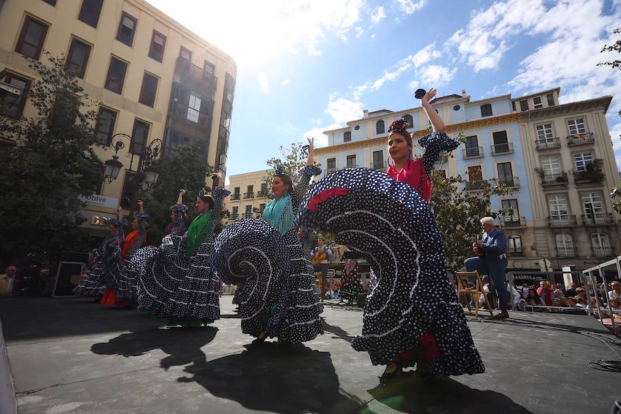
[[[276,168],[273,199],[263,219],[244,219],[226,226],[216,239],[213,266],[226,283],[237,284],[242,332],[261,344],[277,337],[279,344],[297,344],[324,333],[323,306],[315,290],[310,246],[295,226],[295,214],[308,183],[321,170],[313,166],[313,139],[308,139],[306,167],[297,185]],[[302,235],[306,233],[301,233]]]

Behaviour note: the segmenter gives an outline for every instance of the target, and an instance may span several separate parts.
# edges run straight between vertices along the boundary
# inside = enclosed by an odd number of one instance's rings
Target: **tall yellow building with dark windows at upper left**
[[[226,174],[237,76],[226,53],[144,0],[0,1],[0,82],[21,92],[1,115],[34,115],[27,95],[36,79],[23,56],[45,63],[42,50],[66,55],[68,68],[98,101],[99,158],[111,159],[117,140],[125,144],[119,177],[102,181],[86,199],[83,226],[90,234],[105,235],[117,205],[130,207],[138,154],[156,139],[164,153],[197,144],[208,164]],[[131,142],[114,137],[119,133]]]

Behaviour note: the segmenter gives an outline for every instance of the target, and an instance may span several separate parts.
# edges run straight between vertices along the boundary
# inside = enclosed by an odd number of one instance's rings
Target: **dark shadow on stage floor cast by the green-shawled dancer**
[[[91,346],[90,350],[99,355],[123,355],[138,357],[155,349],[161,349],[168,357],[161,359],[159,366],[168,369],[171,366],[197,364],[205,362],[201,347],[213,341],[218,328],[168,328],[150,329],[124,333],[108,342]]]

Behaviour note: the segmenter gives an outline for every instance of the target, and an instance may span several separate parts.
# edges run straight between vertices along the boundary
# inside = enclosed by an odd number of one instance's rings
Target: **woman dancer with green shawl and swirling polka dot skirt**
[[[212,195],[199,193],[199,215],[183,232],[188,207],[183,204],[186,190],[179,191],[170,235],[146,257],[139,276],[138,302],[141,309],[169,325],[198,328],[220,319],[220,284],[211,270],[215,222],[220,217],[224,198],[230,192],[219,187]]]

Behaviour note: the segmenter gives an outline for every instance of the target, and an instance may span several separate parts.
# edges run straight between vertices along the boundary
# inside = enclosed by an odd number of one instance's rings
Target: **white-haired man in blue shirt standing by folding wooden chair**
[[[483,236],[481,240],[472,244],[477,257],[469,257],[464,260],[466,270],[473,272],[478,270],[482,275],[489,275],[493,287],[496,290],[498,302],[500,302],[500,313],[495,316],[496,319],[506,319],[509,313],[506,311],[506,288],[504,286],[504,273],[506,272],[506,236],[494,226],[492,217],[483,217],[481,219],[481,228]]]

